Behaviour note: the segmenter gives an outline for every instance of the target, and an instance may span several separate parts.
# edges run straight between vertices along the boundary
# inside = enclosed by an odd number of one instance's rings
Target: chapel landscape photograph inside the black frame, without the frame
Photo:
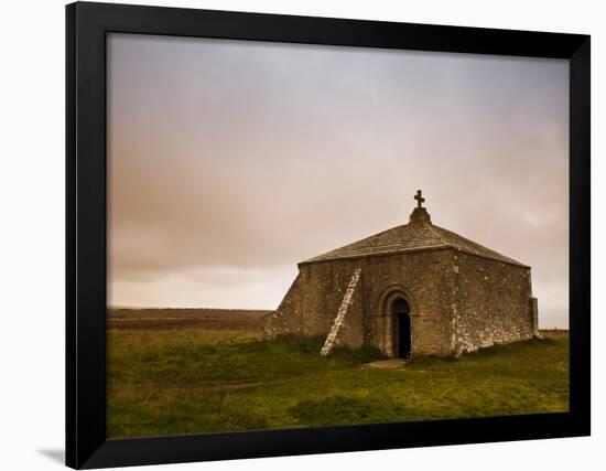
[[[570,410],[567,60],[106,61],[108,438]]]

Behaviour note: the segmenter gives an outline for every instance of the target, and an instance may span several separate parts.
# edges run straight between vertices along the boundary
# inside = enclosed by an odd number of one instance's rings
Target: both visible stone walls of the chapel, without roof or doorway
[[[361,277],[338,343],[394,352],[391,302],[411,308],[413,355],[452,355],[537,334],[530,268],[451,248],[300,264],[268,336],[326,338],[356,268]]]

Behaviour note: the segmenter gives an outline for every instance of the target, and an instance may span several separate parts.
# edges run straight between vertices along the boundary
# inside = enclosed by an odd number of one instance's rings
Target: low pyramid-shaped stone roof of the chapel
[[[310,258],[302,261],[302,264],[444,248],[452,248],[465,254],[527,267],[527,265],[490,250],[458,234],[433,225],[426,210],[420,206],[415,207],[410,215],[409,224],[375,234],[326,254],[318,255],[317,257]]]

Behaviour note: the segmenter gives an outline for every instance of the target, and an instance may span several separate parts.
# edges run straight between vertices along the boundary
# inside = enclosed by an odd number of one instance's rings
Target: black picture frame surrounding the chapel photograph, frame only
[[[570,61],[570,411],[106,438],[106,34],[279,41]],[[66,464],[101,468],[587,436],[591,38],[76,2],[66,7]]]

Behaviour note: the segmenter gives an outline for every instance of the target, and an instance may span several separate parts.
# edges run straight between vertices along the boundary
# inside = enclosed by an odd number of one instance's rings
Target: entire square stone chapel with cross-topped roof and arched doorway
[[[458,355],[538,335],[530,267],[432,223],[421,191],[408,224],[299,264],[264,328],[386,355]]]

